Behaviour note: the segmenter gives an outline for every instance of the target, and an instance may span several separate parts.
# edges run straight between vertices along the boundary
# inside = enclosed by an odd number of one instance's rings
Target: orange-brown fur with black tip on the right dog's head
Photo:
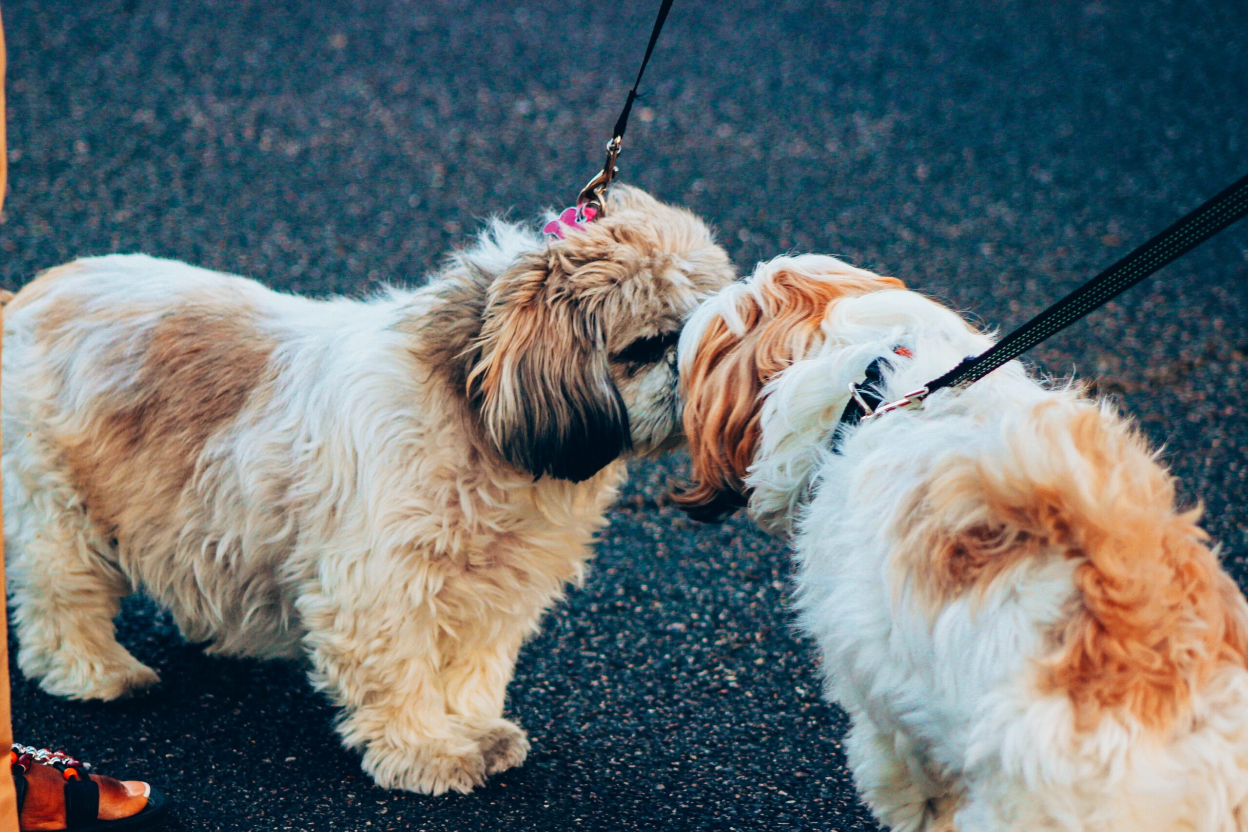
[[[761,430],[763,388],[810,348],[829,306],[845,297],[901,288],[905,284],[892,277],[855,274],[826,281],[780,271],[765,288],[771,308],[743,294],[736,312],[744,336],[720,318],[713,321],[681,378],[694,485],[676,495],[678,504],[704,516],[743,505],[744,479]]]

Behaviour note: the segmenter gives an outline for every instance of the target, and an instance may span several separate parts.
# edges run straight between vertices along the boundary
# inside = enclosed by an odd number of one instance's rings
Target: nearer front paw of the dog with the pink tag
[[[467,742],[373,743],[364,751],[363,767],[382,788],[422,795],[467,795],[485,782],[485,757],[477,743]]]

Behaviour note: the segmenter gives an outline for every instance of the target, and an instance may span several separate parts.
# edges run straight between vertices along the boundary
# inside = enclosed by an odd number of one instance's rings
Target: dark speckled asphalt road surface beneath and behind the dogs
[[[144,251],[272,286],[418,282],[482,217],[593,173],[655,1],[5,0],[0,282]],[[349,10],[348,10],[349,9]],[[841,254],[1002,327],[1248,170],[1242,0],[683,0],[622,167],[741,268]],[[1035,354],[1102,379],[1248,580],[1248,228]],[[587,585],[529,644],[533,752],[472,796],[383,792],[298,667],[205,657],[127,602],[163,684],[119,705],[15,674],[19,736],[181,800],[175,830],[871,830],[789,559],[634,467]]]

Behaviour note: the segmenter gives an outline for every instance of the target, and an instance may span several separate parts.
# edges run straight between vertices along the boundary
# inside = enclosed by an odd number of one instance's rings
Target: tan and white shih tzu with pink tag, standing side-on
[[[212,652],[307,655],[382,786],[519,765],[520,644],[590,556],[630,457],[676,444],[675,344],[733,278],[691,213],[615,187],[560,238],[494,222],[427,286],[316,301],[142,256],[4,313],[19,664],[111,700],[141,590]]]

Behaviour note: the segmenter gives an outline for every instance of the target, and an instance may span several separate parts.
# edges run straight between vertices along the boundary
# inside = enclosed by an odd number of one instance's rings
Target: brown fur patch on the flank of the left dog
[[[124,535],[167,518],[208,437],[238,415],[273,352],[251,317],[191,307],[151,331],[135,395],[66,442],[66,460],[96,523]]]

